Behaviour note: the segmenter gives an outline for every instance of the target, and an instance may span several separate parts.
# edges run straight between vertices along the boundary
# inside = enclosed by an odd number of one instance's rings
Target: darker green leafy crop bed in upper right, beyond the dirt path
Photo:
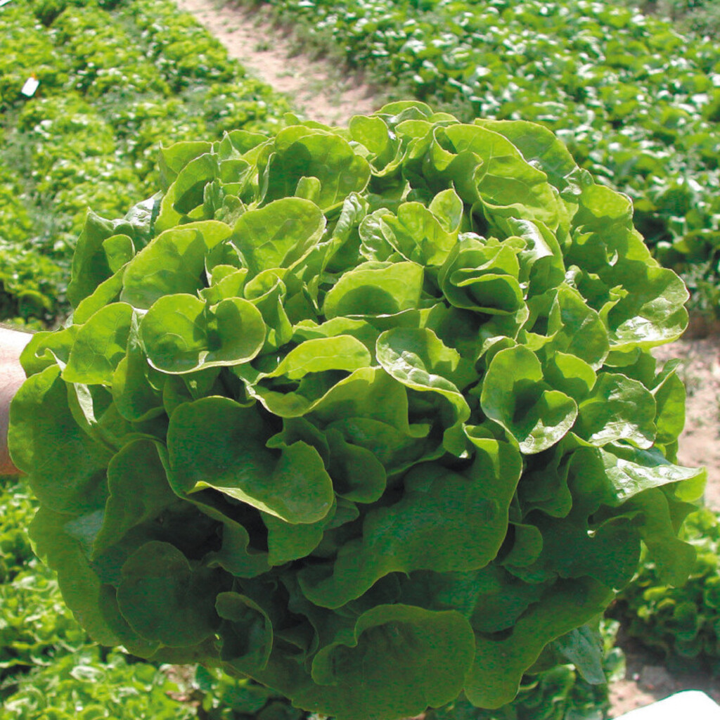
[[[629,194],[662,264],[718,309],[720,49],[604,0],[267,0],[307,42],[460,117],[534,120]]]

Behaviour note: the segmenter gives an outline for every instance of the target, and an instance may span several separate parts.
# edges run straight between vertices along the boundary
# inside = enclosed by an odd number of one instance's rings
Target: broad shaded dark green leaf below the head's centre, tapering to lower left
[[[490,562],[508,529],[521,461],[509,444],[478,442],[465,474],[428,463],[405,475],[402,500],[369,511],[362,539],[341,548],[331,575],[321,566],[300,571],[307,598],[338,608],[389,572],[467,571]]]

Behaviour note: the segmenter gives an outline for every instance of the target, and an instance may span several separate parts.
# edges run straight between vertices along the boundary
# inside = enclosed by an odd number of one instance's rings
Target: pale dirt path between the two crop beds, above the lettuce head
[[[215,35],[230,57],[248,72],[287,95],[292,106],[310,120],[346,125],[356,114],[370,114],[382,105],[370,86],[342,77],[329,60],[294,53],[292,42],[265,17],[242,6],[221,6],[215,0],[176,0]]]

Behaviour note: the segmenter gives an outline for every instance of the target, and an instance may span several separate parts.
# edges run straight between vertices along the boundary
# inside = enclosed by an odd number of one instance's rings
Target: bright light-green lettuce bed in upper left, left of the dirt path
[[[88,207],[146,194],[161,140],[272,127],[288,107],[170,0],[11,0],[0,24],[0,317],[48,323]]]

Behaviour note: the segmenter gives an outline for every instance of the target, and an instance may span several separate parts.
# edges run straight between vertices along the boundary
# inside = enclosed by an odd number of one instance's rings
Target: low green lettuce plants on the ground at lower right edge
[[[720,523],[716,513],[701,508],[690,513],[683,536],[697,557],[688,582],[671,588],[657,566],[645,558],[639,573],[613,605],[624,631],[666,660],[683,667],[720,670]]]

